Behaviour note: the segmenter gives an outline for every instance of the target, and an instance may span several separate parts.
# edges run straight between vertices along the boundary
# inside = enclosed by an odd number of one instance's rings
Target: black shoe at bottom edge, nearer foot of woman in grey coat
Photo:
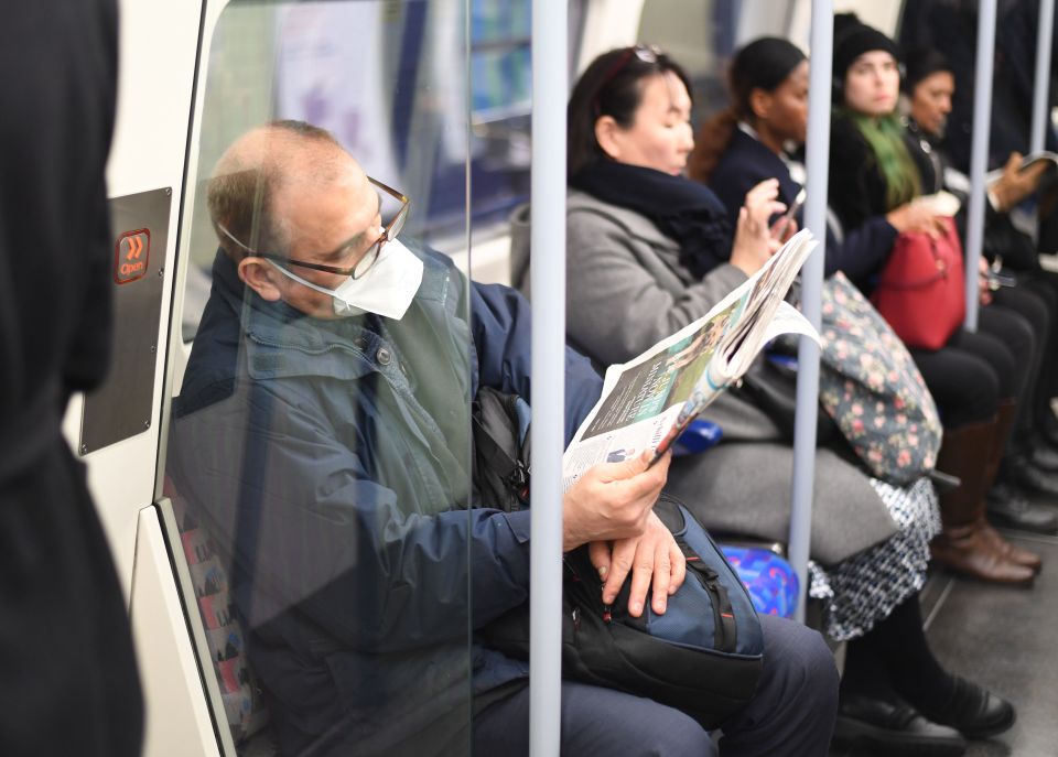
[[[909,704],[856,694],[838,705],[833,743],[875,755],[957,757],[967,750],[958,731],[930,723]]]

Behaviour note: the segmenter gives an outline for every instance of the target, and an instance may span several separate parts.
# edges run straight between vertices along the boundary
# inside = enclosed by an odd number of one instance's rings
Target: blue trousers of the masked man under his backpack
[[[822,637],[762,616],[764,669],[757,692],[723,726],[716,745],[679,710],[652,700],[562,682],[562,754],[577,757],[825,757],[838,710],[838,669]],[[529,754],[529,690],[485,709],[474,754]]]

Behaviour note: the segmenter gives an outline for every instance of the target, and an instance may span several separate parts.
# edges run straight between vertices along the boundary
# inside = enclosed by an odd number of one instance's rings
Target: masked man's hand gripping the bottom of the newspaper
[[[590,541],[640,536],[650,508],[669,475],[671,454],[652,467],[652,451],[622,463],[603,463],[589,469],[562,499],[562,550]]]

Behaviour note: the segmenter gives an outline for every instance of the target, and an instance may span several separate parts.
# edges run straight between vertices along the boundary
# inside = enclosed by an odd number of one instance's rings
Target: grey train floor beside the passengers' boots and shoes
[[[968,757],[1058,757],[1058,537],[1004,536],[1043,555],[1034,587],[1006,588],[936,570],[922,591],[926,632],[948,670],[1017,709],[1013,728],[971,742]],[[834,749],[830,757],[860,754]]]

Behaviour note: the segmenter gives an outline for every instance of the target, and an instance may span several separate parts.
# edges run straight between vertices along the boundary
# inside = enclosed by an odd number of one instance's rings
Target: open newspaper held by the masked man
[[[798,231],[765,266],[694,323],[606,370],[603,394],[562,458],[563,485],[598,463],[663,455],[754,358],[782,334],[819,334],[786,293],[818,242]]]

